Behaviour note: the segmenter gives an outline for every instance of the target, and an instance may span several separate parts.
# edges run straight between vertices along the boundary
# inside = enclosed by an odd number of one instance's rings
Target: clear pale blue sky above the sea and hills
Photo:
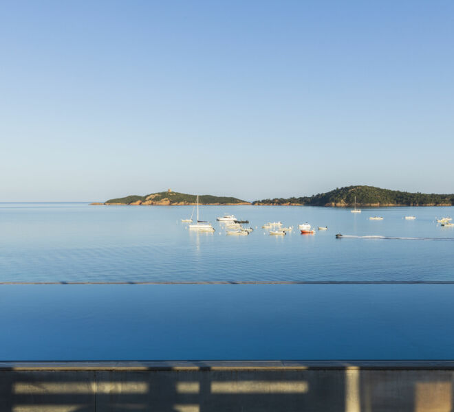
[[[1,1],[0,202],[454,193],[453,1]]]

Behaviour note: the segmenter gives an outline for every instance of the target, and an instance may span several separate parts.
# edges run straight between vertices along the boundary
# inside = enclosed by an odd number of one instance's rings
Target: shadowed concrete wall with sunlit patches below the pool
[[[0,411],[452,411],[450,362],[0,363]]]

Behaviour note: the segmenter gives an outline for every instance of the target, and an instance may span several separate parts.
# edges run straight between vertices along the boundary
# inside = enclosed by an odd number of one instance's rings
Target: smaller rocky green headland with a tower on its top
[[[173,192],[158,192],[139,196],[132,194],[123,198],[110,199],[105,203],[91,203],[92,205],[144,205],[144,206],[173,206],[173,205],[195,205],[197,195]],[[226,196],[212,196],[203,194],[199,196],[199,205],[250,205],[250,202],[242,201],[241,199]]]

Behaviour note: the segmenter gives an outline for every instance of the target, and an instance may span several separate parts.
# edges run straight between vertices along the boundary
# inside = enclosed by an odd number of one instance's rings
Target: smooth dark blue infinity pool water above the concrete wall
[[[3,285],[0,361],[454,359],[454,285]]]

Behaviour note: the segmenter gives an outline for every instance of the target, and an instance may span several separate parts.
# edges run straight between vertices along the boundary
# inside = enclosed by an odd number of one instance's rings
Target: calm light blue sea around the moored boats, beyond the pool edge
[[[0,282],[8,281],[454,281],[454,228],[435,216],[454,207],[201,207],[215,233],[192,233],[193,207],[0,204]],[[233,213],[256,228],[226,236],[216,217]],[[369,216],[384,220],[368,220]],[[404,220],[415,215],[416,220]],[[285,237],[261,229],[281,220]],[[296,226],[327,226],[301,236]],[[341,239],[347,235],[446,238]],[[449,240],[451,239],[451,240]]]

